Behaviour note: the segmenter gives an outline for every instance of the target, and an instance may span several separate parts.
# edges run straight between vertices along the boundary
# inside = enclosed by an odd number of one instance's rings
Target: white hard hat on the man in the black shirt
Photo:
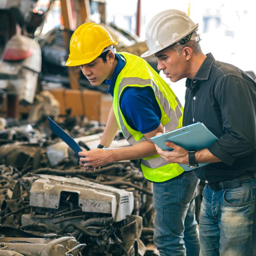
[[[141,57],[148,57],[175,43],[185,44],[189,39],[200,41],[201,36],[196,33],[197,27],[198,23],[195,24],[185,12],[179,10],[159,12],[148,23],[145,39],[148,51]]]

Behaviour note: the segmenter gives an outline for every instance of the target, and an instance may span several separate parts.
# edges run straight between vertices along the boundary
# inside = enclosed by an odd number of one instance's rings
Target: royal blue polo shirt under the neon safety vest
[[[109,85],[108,93],[114,94],[116,78],[125,66],[125,59],[118,55],[118,62]],[[147,133],[154,131],[160,124],[161,110],[156,101],[155,93],[150,86],[127,87],[120,97],[120,107],[124,118],[135,131]]]

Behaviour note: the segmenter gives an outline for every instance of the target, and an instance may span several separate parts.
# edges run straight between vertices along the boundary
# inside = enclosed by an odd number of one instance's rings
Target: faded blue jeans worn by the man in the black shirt
[[[212,190],[206,185],[203,196],[200,255],[256,255],[256,179],[225,190]]]

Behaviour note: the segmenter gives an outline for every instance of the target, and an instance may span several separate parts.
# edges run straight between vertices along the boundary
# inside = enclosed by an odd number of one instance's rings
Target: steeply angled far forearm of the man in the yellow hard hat
[[[108,115],[108,121],[106,124],[106,127],[104,129],[104,132],[102,134],[100,144],[106,147],[109,147],[111,142],[116,136],[116,132],[118,131],[119,126],[116,121],[116,116],[113,111],[113,106],[111,107]]]

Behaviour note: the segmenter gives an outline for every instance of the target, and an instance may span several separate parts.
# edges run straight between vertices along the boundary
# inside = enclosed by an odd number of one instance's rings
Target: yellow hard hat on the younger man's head
[[[104,49],[117,45],[108,31],[96,23],[84,23],[71,36],[66,66],[79,66],[95,60]]]

